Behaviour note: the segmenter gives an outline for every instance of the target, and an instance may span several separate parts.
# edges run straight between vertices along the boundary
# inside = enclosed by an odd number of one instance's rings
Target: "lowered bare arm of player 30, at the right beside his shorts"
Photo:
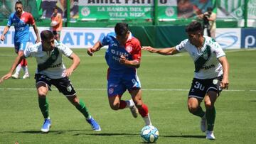
[[[227,57],[220,57],[218,58],[220,64],[223,66],[223,79],[220,82],[220,87],[223,89],[228,89],[228,74],[229,74],[229,64]]]

